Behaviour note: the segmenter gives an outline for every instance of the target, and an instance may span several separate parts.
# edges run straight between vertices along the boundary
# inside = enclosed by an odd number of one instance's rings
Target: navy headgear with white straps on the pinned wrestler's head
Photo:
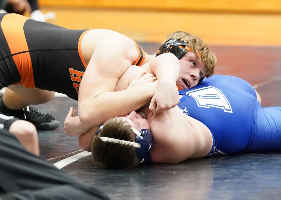
[[[97,134],[103,128],[103,125],[100,129],[96,132]],[[152,133],[149,129],[141,129],[140,131],[131,127],[133,132],[136,134],[135,142],[126,141],[126,140],[119,140],[116,138],[108,138],[108,137],[100,137],[100,139],[104,142],[114,142],[114,143],[121,143],[121,144],[128,144],[133,145],[135,147],[136,155],[140,162],[146,161],[150,159],[150,152],[152,148]]]

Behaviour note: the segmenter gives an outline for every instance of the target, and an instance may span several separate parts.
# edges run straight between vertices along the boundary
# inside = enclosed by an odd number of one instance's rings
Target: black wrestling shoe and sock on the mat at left
[[[3,96],[0,97],[0,112],[31,122],[37,130],[53,130],[61,124],[50,113],[45,113],[31,106],[26,106],[20,110],[9,109],[4,105]]]

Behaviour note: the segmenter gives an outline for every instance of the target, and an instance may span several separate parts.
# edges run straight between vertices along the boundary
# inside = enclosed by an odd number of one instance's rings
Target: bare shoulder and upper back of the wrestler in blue
[[[178,106],[147,117],[153,134],[151,157],[154,163],[178,163],[204,157],[212,148],[209,129],[184,115]]]

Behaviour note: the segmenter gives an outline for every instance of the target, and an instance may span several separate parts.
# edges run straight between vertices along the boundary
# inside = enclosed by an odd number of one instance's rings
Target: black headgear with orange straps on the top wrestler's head
[[[156,56],[159,56],[162,53],[170,52],[174,54],[178,59],[181,59],[187,51],[192,51],[191,48],[188,46],[187,42],[181,41],[180,39],[172,38],[159,47]],[[200,52],[198,54],[201,56]],[[203,79],[204,77],[202,77],[198,81],[198,84],[201,83]]]

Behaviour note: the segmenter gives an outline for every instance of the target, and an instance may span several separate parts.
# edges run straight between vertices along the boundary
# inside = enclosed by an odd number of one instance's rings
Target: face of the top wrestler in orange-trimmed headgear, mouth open
[[[196,56],[192,51],[179,59],[181,64],[181,73],[177,84],[184,90],[194,87],[198,84],[199,80],[206,75],[205,66],[202,59]]]

